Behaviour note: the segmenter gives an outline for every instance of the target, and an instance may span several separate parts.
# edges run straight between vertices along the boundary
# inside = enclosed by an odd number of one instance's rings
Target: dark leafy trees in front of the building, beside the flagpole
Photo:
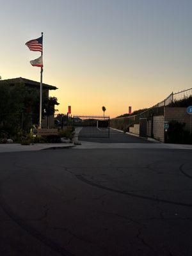
[[[58,105],[55,97],[47,98],[43,93],[42,116],[54,113],[53,104]],[[0,86],[0,132],[15,134],[21,127],[25,129],[38,124],[40,95],[36,88],[24,84],[8,83]]]

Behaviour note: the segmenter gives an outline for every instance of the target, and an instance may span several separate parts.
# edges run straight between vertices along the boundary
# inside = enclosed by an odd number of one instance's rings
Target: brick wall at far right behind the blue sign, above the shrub
[[[172,120],[186,123],[185,129],[187,131],[190,130],[190,115],[187,113],[187,108],[166,107],[164,111],[164,121],[170,122]]]

